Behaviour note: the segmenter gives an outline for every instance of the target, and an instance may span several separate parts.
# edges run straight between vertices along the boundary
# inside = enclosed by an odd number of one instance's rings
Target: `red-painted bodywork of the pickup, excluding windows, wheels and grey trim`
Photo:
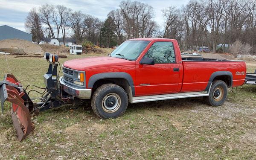
[[[135,96],[203,91],[207,86],[210,76],[216,71],[230,71],[233,74],[232,87],[244,84],[245,74],[236,75],[236,72],[246,73],[244,61],[182,61],[178,43],[174,39],[137,38],[129,41],[136,40],[150,41],[136,61],[115,57],[91,57],[66,61],[64,67],[85,71],[86,83],[88,83],[91,76],[97,73],[126,72],[133,78]],[[173,43],[176,63],[140,64],[140,60],[151,45],[159,41]],[[179,71],[175,72],[173,68],[179,68]]]

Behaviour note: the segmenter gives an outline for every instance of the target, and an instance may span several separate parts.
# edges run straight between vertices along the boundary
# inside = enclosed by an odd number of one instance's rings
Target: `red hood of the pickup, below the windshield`
[[[70,61],[65,61],[63,66],[73,70],[84,71],[86,69],[91,69],[91,68],[132,65],[132,64],[135,64],[135,61],[128,61],[122,58],[104,56],[104,57],[73,59]]]

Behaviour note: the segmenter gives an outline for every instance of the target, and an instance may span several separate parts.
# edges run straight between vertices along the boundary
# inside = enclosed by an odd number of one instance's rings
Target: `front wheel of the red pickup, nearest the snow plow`
[[[128,96],[116,84],[103,84],[93,93],[91,100],[94,113],[102,119],[121,116],[128,106]]]

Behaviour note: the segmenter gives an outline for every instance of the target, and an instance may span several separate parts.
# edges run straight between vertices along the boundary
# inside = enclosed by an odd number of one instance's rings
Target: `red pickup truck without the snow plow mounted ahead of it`
[[[108,57],[66,61],[64,92],[91,99],[101,118],[122,115],[130,103],[203,96],[212,106],[227,88],[244,84],[244,61],[182,58],[174,39],[139,38],[122,43]]]

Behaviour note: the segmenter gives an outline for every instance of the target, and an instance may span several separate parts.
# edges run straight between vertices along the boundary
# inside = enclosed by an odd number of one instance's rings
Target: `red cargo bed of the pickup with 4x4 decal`
[[[246,64],[244,61],[183,57],[183,85],[181,92],[203,91],[209,87],[209,79],[215,72],[232,75],[232,86],[244,84]]]

